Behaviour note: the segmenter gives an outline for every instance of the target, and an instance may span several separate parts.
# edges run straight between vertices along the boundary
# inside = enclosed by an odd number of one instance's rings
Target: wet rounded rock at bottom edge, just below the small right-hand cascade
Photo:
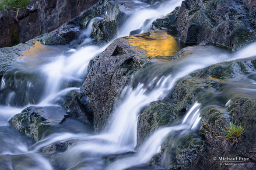
[[[202,150],[201,137],[195,133],[171,133],[161,145],[161,153],[154,156],[149,164],[166,169],[189,169]]]

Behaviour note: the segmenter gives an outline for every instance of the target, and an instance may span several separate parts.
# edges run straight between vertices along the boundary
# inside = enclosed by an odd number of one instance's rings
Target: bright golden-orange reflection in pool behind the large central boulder
[[[130,36],[126,39],[130,45],[144,49],[149,57],[172,58],[179,51],[175,38],[164,30],[155,31],[153,34]]]

